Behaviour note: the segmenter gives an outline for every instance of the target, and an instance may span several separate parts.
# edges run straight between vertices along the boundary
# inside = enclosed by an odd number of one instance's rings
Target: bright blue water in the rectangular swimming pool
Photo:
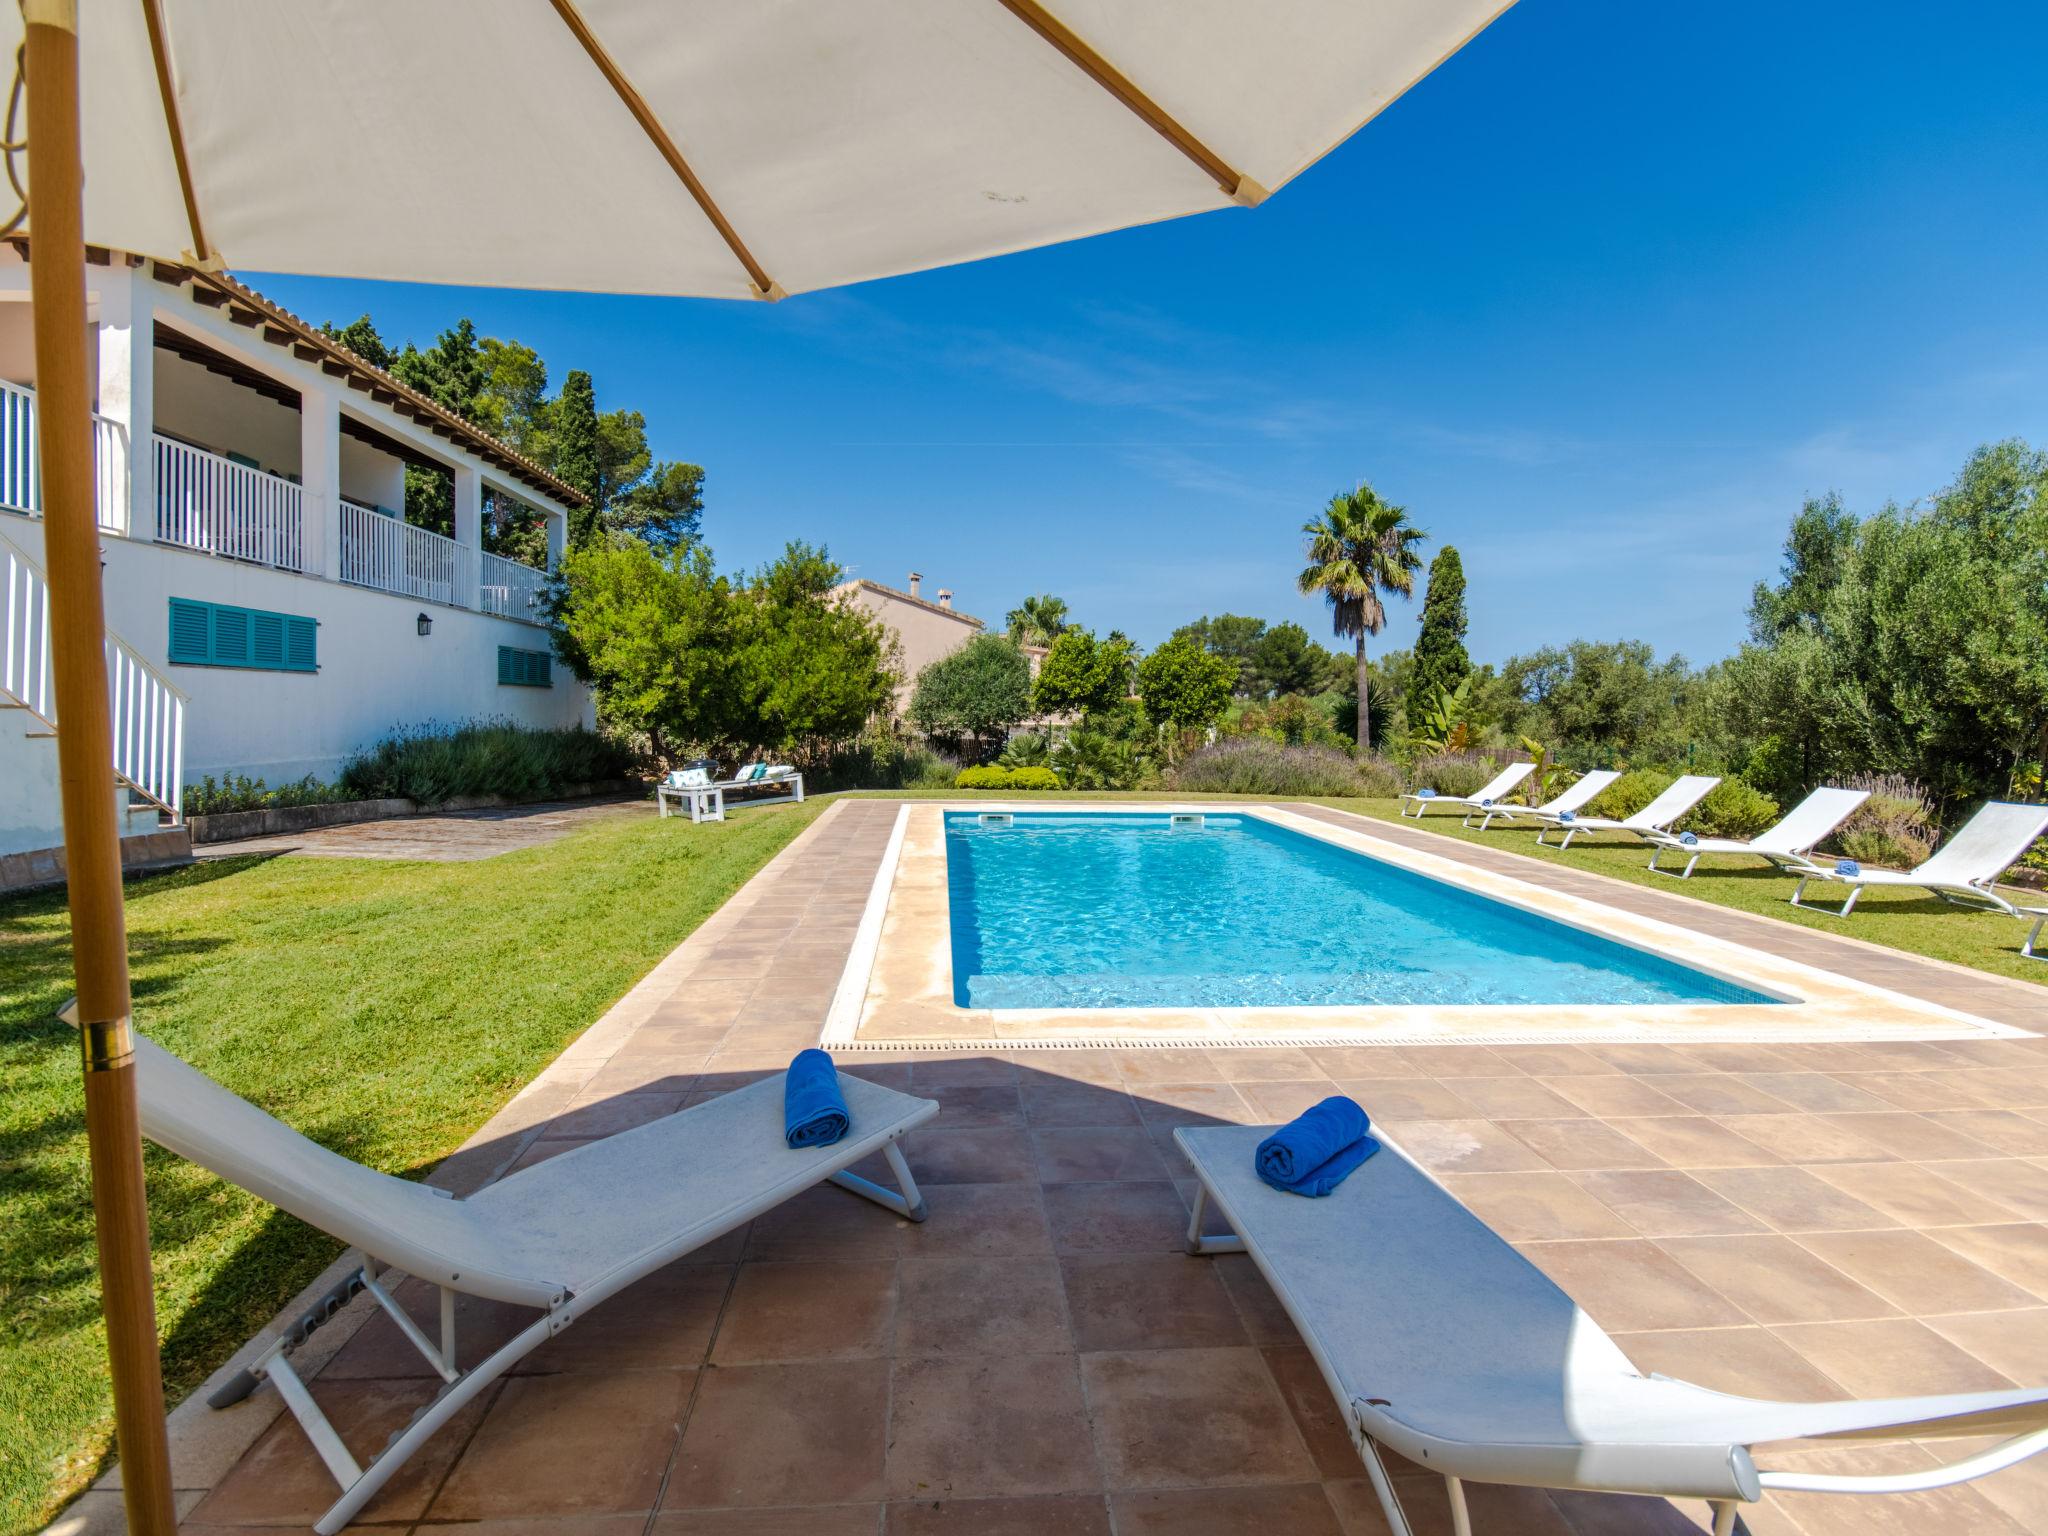
[[[946,815],[963,1008],[1769,1004],[1245,815]]]

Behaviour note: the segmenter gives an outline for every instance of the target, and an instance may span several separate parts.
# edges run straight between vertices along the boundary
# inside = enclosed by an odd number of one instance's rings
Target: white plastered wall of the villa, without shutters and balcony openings
[[[403,506],[403,465],[389,453],[338,432],[340,412],[444,463],[457,483],[457,532],[475,551],[483,485],[504,485],[549,518],[549,545],[561,549],[567,508],[496,469],[424,426],[381,408],[367,393],[324,375],[205,309],[188,289],[123,262],[88,268],[94,365],[100,408],[129,432],[133,537],[100,535],[106,625],[162,676],[188,694],[184,782],[213,774],[250,774],[270,784],[332,776],[346,758],[403,727],[512,719],[535,727],[594,725],[590,692],[555,666],[553,688],[498,684],[498,647],[549,649],[547,629],[496,618],[463,606],[424,602],[324,580],[332,571],[336,494],[371,506]],[[0,250],[0,377],[23,373],[27,346],[27,268]],[[164,315],[207,346],[297,389],[303,410],[279,406],[199,365],[156,348],[152,324]],[[20,342],[16,348],[14,342]],[[152,432],[162,428],[221,453],[256,459],[279,473],[309,473],[303,487],[307,575],[154,543],[156,489],[150,475]],[[469,516],[463,516],[467,508]],[[43,561],[41,518],[0,512],[0,535]],[[473,565],[471,565],[473,569]],[[475,602],[475,578],[459,600]],[[225,602],[305,614],[319,623],[319,670],[170,666],[170,598]],[[428,614],[432,633],[418,633]],[[55,741],[16,729],[18,711],[0,713],[0,852],[61,842]],[[137,823],[133,829],[141,829]]]

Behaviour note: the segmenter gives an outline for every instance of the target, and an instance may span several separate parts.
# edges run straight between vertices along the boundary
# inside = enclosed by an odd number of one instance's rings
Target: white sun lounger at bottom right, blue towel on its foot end
[[[1407,1513],[1380,1460],[1438,1473],[1470,1536],[1464,1483],[1706,1499],[1729,1536],[1765,1489],[1907,1493],[2048,1448],[2048,1386],[1866,1403],[1772,1403],[1647,1376],[1534,1264],[1386,1145],[1321,1200],[1260,1182],[1272,1126],[1186,1126],[1192,1253],[1249,1253],[1323,1380],[1395,1536]],[[1202,1237],[1214,1200],[1235,1237]],[[1284,1409],[1282,1409],[1284,1411]],[[1966,1460],[1882,1477],[1769,1473],[1751,1446],[1804,1438],[2011,1436]]]

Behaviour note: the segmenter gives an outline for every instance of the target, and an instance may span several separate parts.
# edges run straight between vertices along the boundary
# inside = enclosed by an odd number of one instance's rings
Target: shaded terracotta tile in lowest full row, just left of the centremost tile
[[[664,1509],[883,1497],[889,1362],[707,1370]]]

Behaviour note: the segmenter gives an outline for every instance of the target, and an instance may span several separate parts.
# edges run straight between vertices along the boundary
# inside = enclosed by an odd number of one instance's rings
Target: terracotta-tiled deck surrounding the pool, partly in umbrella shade
[[[891,803],[834,807],[436,1182],[473,1188],[815,1040],[893,817]],[[1985,1018],[2048,1024],[2048,991],[2025,983],[1372,829]],[[2044,1040],[844,1063],[944,1106],[905,1143],[926,1225],[838,1190],[756,1221],[530,1356],[358,1528],[1384,1532],[1333,1403],[1249,1262],[1182,1253],[1190,1190],[1171,1128],[1276,1120],[1331,1092],[1362,1100],[1647,1370],[1794,1399],[2048,1380]],[[469,1348],[512,1321],[477,1307]],[[313,1382],[365,1454],[428,1391],[383,1319]],[[229,1413],[193,1403],[176,1415],[186,1530],[305,1530],[332,1501],[307,1442],[274,1415],[268,1391]],[[1778,1460],[1927,1464],[1917,1448]],[[1403,1487],[1417,1530],[1446,1532],[1440,1485]],[[1688,1532],[1702,1516],[1649,1499],[1473,1495],[1481,1536]],[[113,1497],[88,1495],[80,1528]],[[1757,1536],[2048,1532],[2048,1468],[1911,1497],[1774,1497],[1747,1520]]]

